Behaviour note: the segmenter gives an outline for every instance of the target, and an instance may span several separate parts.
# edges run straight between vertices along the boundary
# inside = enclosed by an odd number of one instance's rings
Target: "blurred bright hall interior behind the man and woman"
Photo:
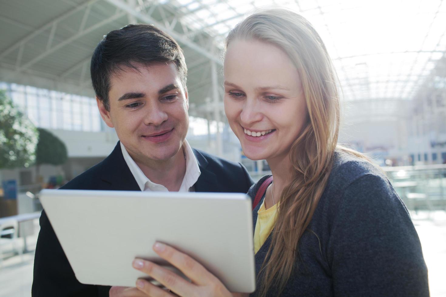
[[[117,137],[100,118],[93,49],[126,24],[155,24],[189,69],[191,146],[243,163],[223,111],[222,49],[264,5],[301,12],[333,60],[343,94],[339,142],[388,173],[421,239],[431,296],[446,296],[446,1],[0,0],[0,297],[29,296],[42,188],[105,158]]]

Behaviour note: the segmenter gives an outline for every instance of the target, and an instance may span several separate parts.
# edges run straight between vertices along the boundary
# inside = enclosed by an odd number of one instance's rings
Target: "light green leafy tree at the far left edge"
[[[38,132],[0,90],[0,169],[29,167],[36,160]]]

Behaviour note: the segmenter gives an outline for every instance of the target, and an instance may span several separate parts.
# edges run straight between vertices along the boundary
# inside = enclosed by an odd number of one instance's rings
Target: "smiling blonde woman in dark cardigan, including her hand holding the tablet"
[[[368,159],[337,146],[336,75],[311,24],[293,12],[266,10],[237,25],[226,43],[229,124],[244,154],[266,159],[273,173],[253,212],[253,295],[429,296],[420,241],[401,199]],[[267,178],[250,189],[252,198]],[[136,259],[168,289],[231,296],[189,256],[163,244],[154,249],[192,280]],[[142,293],[170,296],[138,284]]]

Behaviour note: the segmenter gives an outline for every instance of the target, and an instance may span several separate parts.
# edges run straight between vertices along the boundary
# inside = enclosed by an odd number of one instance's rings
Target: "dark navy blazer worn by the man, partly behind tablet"
[[[246,193],[253,184],[248,171],[240,163],[220,159],[203,151],[193,151],[201,171],[194,184],[195,191]],[[119,142],[106,159],[71,180],[62,189],[140,191],[124,160]],[[76,279],[45,211],[42,211],[40,217],[40,228],[34,258],[32,296],[108,297],[110,287],[84,285]]]

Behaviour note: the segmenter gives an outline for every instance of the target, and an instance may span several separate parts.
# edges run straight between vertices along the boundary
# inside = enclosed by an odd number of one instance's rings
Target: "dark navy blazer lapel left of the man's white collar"
[[[103,183],[99,190],[141,191],[124,160],[119,141],[111,154],[103,160],[103,170],[100,178]]]

